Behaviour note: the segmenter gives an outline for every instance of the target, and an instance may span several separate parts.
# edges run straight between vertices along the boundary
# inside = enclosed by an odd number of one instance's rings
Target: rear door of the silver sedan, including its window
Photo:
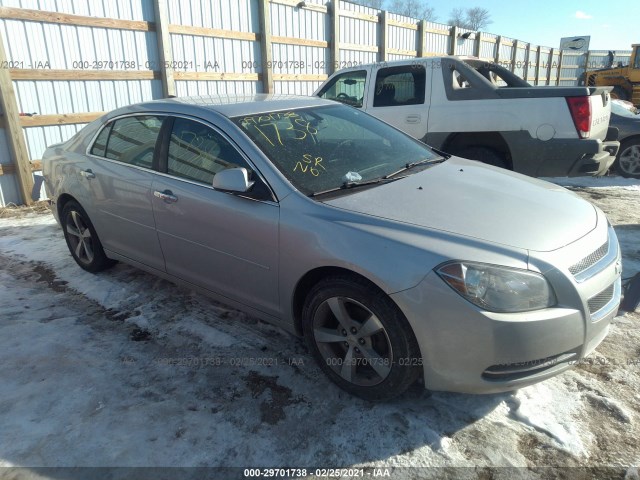
[[[93,222],[105,249],[164,271],[151,184],[162,115],[129,115],[109,122],[80,172]]]

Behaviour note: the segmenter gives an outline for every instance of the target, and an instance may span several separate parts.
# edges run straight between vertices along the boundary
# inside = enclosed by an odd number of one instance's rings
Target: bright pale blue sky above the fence
[[[437,21],[446,23],[455,7],[483,7],[493,23],[485,31],[535,45],[558,47],[560,38],[590,35],[591,50],[630,50],[640,43],[638,0],[427,0]]]

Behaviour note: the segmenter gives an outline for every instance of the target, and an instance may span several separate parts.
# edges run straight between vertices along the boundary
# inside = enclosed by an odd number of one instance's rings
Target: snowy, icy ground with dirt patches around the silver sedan
[[[605,210],[629,276],[640,271],[638,181],[600,180],[569,186]],[[416,386],[370,404],[278,328],[123,264],[84,272],[48,213],[0,218],[0,287],[0,465],[361,466],[394,478],[590,466],[638,478],[637,313],[538,385],[485,396]]]

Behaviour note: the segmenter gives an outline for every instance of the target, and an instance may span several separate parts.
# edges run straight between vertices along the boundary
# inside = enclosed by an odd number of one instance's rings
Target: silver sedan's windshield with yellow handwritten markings
[[[427,145],[344,105],[232,119],[302,193],[373,185],[440,160]],[[407,168],[409,167],[409,168]]]

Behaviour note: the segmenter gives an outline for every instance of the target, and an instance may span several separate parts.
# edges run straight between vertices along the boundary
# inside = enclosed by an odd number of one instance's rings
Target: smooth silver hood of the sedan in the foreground
[[[457,157],[324,203],[535,251],[563,247],[597,224],[593,205],[569,190]]]

